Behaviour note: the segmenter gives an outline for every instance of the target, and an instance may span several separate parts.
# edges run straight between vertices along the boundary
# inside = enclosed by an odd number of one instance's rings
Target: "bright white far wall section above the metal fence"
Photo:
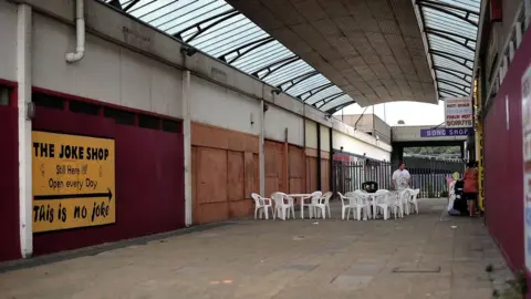
[[[366,154],[366,157],[378,159],[378,161],[391,161],[391,152],[378,148],[374,145],[364,143],[360,140],[353,138],[352,136],[345,135],[341,132],[333,131],[332,143],[335,150],[341,150],[343,146],[343,152],[363,155]]]

